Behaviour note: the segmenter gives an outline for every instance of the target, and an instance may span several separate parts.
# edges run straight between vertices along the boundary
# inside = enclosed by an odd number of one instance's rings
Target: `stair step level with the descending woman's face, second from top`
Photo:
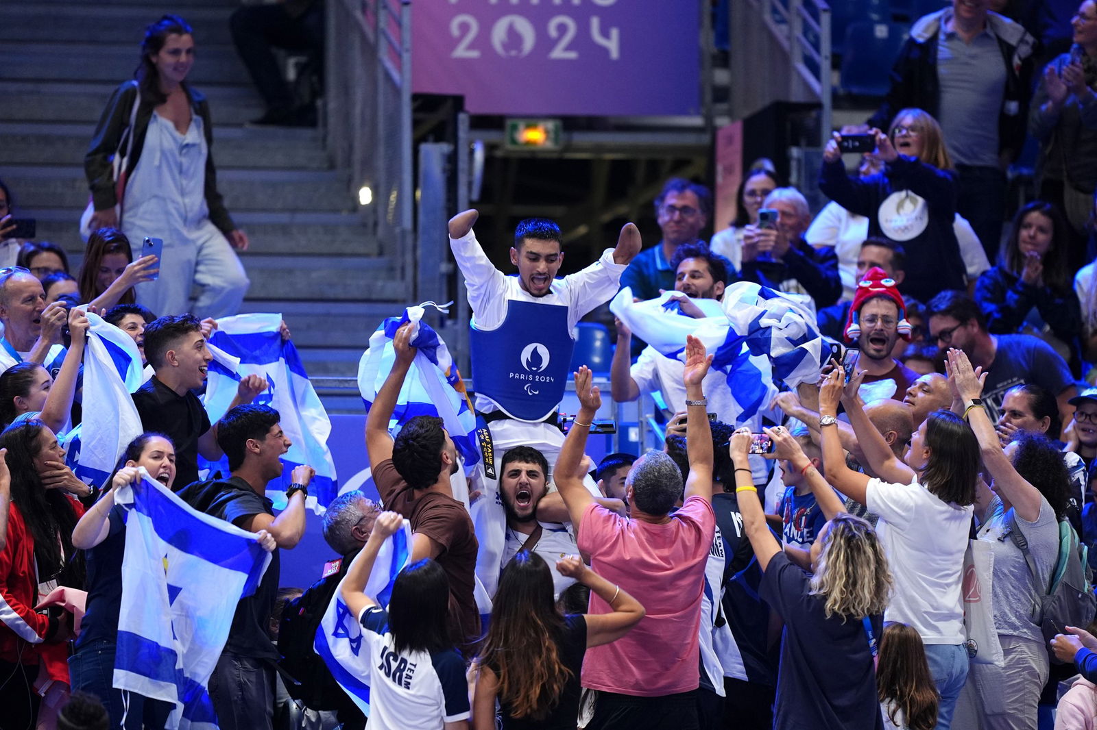
[[[203,83],[249,83],[248,72],[230,44],[197,46],[199,60],[188,81]],[[7,79],[113,81],[133,78],[139,55],[138,43],[38,43],[9,41],[0,45],[0,68]]]

